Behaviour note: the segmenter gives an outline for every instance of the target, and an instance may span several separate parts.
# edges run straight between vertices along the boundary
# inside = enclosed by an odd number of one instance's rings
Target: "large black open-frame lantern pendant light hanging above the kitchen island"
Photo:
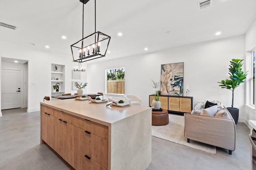
[[[85,68],[81,65],[84,61],[105,57],[110,41],[110,36],[99,31],[96,32],[96,0],[94,0],[95,32],[84,38],[84,4],[88,1],[80,0],[83,3],[82,39],[70,45],[73,61],[79,62],[77,69],[74,68],[74,71],[85,71]],[[81,67],[82,69],[80,69]]]

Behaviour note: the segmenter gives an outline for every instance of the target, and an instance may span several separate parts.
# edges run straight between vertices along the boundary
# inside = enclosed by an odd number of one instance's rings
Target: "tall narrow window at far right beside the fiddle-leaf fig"
[[[255,105],[255,49],[250,51],[250,59],[251,59],[251,71],[250,71],[250,84],[251,84],[251,104]]]

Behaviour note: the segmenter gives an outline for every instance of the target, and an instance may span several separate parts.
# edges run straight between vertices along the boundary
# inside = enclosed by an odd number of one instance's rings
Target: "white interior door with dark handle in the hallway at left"
[[[20,108],[20,70],[1,69],[2,71],[2,103],[1,109]]]

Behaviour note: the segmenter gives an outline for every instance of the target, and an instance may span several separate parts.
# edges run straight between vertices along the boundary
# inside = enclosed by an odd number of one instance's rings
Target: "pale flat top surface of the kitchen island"
[[[58,109],[77,117],[81,117],[83,119],[88,119],[90,121],[103,124],[112,124],[142,111],[146,111],[148,109],[151,110],[150,107],[146,106],[128,105],[124,107],[117,107],[111,105],[106,106],[107,103],[108,102],[92,103],[88,100],[77,101],[75,99],[65,99],[45,101],[41,102],[40,104]]]

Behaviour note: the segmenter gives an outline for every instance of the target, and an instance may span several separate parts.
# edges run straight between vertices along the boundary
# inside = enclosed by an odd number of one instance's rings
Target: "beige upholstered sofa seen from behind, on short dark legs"
[[[236,149],[236,125],[229,111],[227,117],[184,114],[184,135],[187,141],[196,140],[228,149],[229,154]]]

